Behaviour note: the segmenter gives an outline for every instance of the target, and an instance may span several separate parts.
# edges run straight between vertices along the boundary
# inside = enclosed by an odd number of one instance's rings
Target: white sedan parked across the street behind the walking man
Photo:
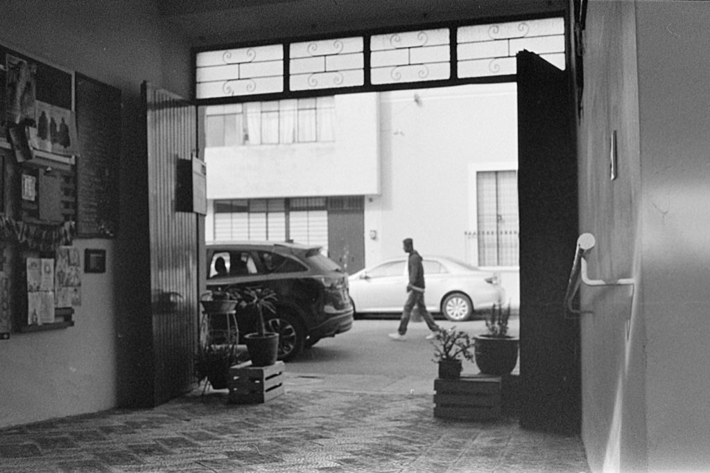
[[[482,271],[452,257],[422,256],[422,264],[427,310],[442,313],[449,321],[466,321],[476,311],[506,299],[499,274]],[[408,282],[407,256],[366,267],[349,279],[356,313],[402,312]]]

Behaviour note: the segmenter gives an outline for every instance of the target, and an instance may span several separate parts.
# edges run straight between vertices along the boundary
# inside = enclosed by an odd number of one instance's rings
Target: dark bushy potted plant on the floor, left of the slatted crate
[[[195,354],[195,378],[197,384],[204,381],[204,390],[207,383],[212,389],[225,389],[229,382],[229,367],[246,361],[246,353],[240,351],[236,344],[205,343]]]

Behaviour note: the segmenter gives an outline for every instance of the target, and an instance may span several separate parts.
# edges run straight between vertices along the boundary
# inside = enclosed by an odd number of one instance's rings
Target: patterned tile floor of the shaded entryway
[[[266,404],[197,389],[152,409],[0,430],[0,471],[589,471],[577,436],[435,418],[430,395],[286,386]]]

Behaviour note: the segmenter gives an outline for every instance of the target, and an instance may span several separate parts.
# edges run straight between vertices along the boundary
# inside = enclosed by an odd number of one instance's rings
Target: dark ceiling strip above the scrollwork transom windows
[[[560,11],[568,0],[157,0],[191,45]]]

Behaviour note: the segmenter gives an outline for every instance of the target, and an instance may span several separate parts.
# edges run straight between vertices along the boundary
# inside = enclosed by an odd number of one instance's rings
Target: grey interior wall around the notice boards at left
[[[9,5],[11,3],[11,5]],[[126,115],[122,154],[136,148],[141,81],[187,95],[190,54],[180,38],[158,26],[153,1],[4,2],[0,43],[40,61],[73,69],[119,87]],[[122,196],[130,207],[130,197]],[[119,230],[120,231],[120,230]],[[121,234],[130,240],[136,235]],[[75,326],[43,333],[12,333],[0,341],[0,426],[100,411],[116,406],[116,320],[127,317],[117,294],[131,274],[129,254],[116,240],[75,240],[107,250],[107,272],[84,274]],[[126,245],[131,247],[131,245]]]

